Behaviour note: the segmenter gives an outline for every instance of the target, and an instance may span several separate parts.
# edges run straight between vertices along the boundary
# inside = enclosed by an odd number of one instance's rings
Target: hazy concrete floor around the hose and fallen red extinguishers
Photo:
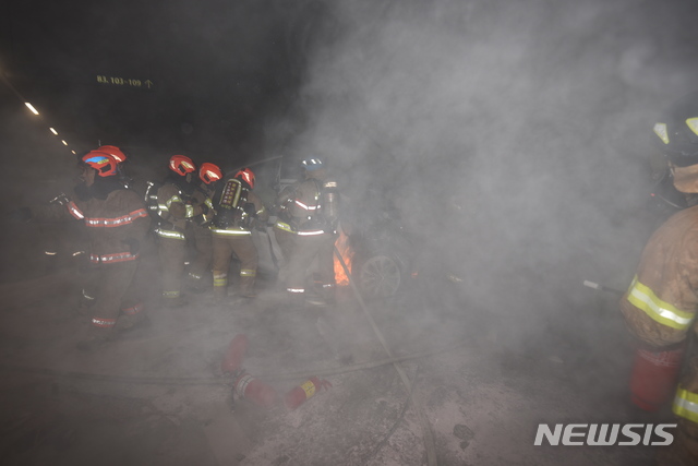
[[[447,288],[420,278],[366,304],[373,327],[349,288],[336,308],[291,313],[269,287],[237,308],[192,295],[158,309],[151,297],[152,327],[82,354],[81,278],[63,267],[0,287],[3,464],[643,465],[658,447],[534,446],[538,425],[671,420],[630,409],[619,322],[515,338],[524,322],[440,306],[426,289]],[[240,333],[243,368],[278,395],[272,408],[233,401],[220,371]],[[311,375],[333,386],[284,407]]]

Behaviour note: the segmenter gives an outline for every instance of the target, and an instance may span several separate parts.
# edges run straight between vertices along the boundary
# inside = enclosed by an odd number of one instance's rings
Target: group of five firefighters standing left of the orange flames
[[[77,343],[82,350],[94,351],[149,322],[143,287],[148,280],[139,270],[151,234],[156,239],[164,308],[188,304],[182,288],[209,292],[214,306],[244,304],[256,296],[258,254],[252,234],[255,228],[266,230],[269,212],[253,192],[253,171],[242,168],[225,176],[213,163],[197,167],[190,157],[173,155],[167,177],[148,181],[143,196],[130,188],[125,160],[119,147],[99,146],[79,157],[81,182],[72,195],[12,214],[22,222],[84,222],[91,273],[77,311],[89,315],[91,325]],[[275,238],[284,255],[279,277],[290,308],[305,304],[306,288],[311,288],[308,272],[315,258],[318,283],[312,288],[318,288],[318,294],[314,302],[334,303],[337,183],[318,157],[304,158],[301,166],[303,179],[281,191],[272,206],[277,215]],[[194,253],[186,266],[189,251]],[[229,297],[233,256],[240,275]]]

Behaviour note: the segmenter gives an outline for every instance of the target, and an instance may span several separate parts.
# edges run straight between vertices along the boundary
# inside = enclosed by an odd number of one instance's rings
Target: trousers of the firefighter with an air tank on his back
[[[239,294],[244,297],[254,296],[254,279],[257,273],[257,249],[251,235],[213,234],[214,250],[214,297],[222,300],[228,294],[228,270],[230,260],[236,254],[240,260]]]

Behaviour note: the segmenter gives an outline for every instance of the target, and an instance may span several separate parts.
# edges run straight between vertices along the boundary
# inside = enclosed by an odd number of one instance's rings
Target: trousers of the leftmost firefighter
[[[96,272],[94,301],[92,306],[92,330],[100,336],[107,336],[117,325],[117,319],[123,320],[122,327],[140,322],[143,314],[143,301],[137,294],[137,284],[133,279],[139,261],[118,262],[98,265]],[[123,313],[121,318],[119,314]]]

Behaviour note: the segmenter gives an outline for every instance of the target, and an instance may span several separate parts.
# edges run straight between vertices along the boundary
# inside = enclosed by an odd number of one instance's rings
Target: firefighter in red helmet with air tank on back
[[[221,183],[214,195],[214,216],[210,231],[214,242],[214,299],[222,302],[228,295],[230,259],[240,260],[238,301],[255,297],[254,282],[257,273],[257,249],[252,240],[252,229],[263,228],[268,219],[264,204],[252,190],[254,174],[249,168],[239,170]]]

